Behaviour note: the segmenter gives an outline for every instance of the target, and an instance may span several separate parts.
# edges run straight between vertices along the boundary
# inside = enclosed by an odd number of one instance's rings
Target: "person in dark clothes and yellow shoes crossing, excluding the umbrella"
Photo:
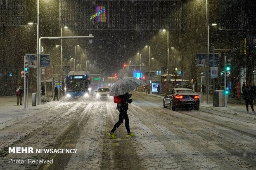
[[[108,133],[109,137],[111,137],[112,139],[116,138],[114,136],[114,132],[123,123],[123,119],[125,120],[125,126],[126,126],[126,130],[127,130],[126,137],[135,136],[135,134],[130,132],[129,118],[128,118],[128,114],[127,114],[128,105],[129,105],[128,103],[133,102],[133,99],[130,99],[131,95],[132,94],[128,94],[128,93],[126,93],[124,95],[120,95],[121,102],[118,103],[116,106],[116,109],[118,109],[118,111],[119,111],[119,120],[118,120],[118,122],[116,122],[113,129]]]

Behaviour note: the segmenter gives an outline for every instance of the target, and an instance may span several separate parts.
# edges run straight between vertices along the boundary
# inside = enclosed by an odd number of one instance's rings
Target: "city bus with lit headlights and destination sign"
[[[71,97],[89,97],[90,93],[90,77],[86,75],[86,72],[74,72],[71,71],[66,76],[65,83],[65,96]]]

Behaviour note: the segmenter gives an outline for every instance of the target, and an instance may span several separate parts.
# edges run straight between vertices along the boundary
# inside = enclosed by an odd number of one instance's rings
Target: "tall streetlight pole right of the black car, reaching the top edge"
[[[209,19],[208,19],[208,1],[206,0],[206,27],[207,27],[207,65],[206,65],[206,76],[207,76],[207,104],[209,105],[210,95],[210,82],[209,82]]]

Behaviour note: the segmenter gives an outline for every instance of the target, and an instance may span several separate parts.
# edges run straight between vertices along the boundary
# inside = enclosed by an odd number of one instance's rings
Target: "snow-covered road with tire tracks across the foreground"
[[[124,123],[116,139],[107,136],[119,116],[112,100],[63,100],[33,114],[15,114],[0,126],[0,169],[256,170],[255,115],[204,106],[171,111],[159,97],[134,92],[132,98],[128,115],[134,138],[126,138]],[[77,153],[8,154],[8,147]],[[8,164],[10,158],[53,159],[53,164]]]

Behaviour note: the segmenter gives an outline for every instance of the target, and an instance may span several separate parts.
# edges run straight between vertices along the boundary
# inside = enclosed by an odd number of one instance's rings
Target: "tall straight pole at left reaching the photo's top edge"
[[[37,58],[37,104],[40,103],[40,54],[39,54],[39,0],[37,0],[36,14],[36,58]]]

